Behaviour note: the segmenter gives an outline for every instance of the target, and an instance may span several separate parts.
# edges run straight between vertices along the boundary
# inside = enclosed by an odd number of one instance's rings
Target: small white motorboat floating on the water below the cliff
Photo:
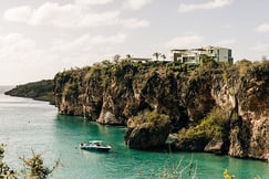
[[[104,145],[102,140],[91,140],[89,143],[80,144],[80,148],[84,150],[110,151],[110,145]]]

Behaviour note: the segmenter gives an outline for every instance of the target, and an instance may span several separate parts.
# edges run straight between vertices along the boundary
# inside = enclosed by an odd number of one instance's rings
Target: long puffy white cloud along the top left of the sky
[[[97,1],[91,1],[95,3]],[[107,3],[108,0],[100,1]],[[79,3],[79,2],[77,2]],[[90,1],[80,1],[80,3],[90,3]],[[104,12],[91,12],[76,3],[60,6],[56,2],[46,2],[39,8],[19,7],[9,9],[3,18],[7,21],[23,22],[31,25],[54,25],[61,28],[87,28],[102,25],[122,25],[124,28],[144,28],[149,23],[146,20],[135,18],[121,19],[118,10]]]

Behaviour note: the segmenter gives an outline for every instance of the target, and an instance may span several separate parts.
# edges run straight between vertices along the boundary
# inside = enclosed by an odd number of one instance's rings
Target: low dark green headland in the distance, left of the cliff
[[[4,94],[19,97],[30,97],[37,101],[45,101],[54,104],[53,85],[54,83],[52,80],[43,80],[18,85]]]

